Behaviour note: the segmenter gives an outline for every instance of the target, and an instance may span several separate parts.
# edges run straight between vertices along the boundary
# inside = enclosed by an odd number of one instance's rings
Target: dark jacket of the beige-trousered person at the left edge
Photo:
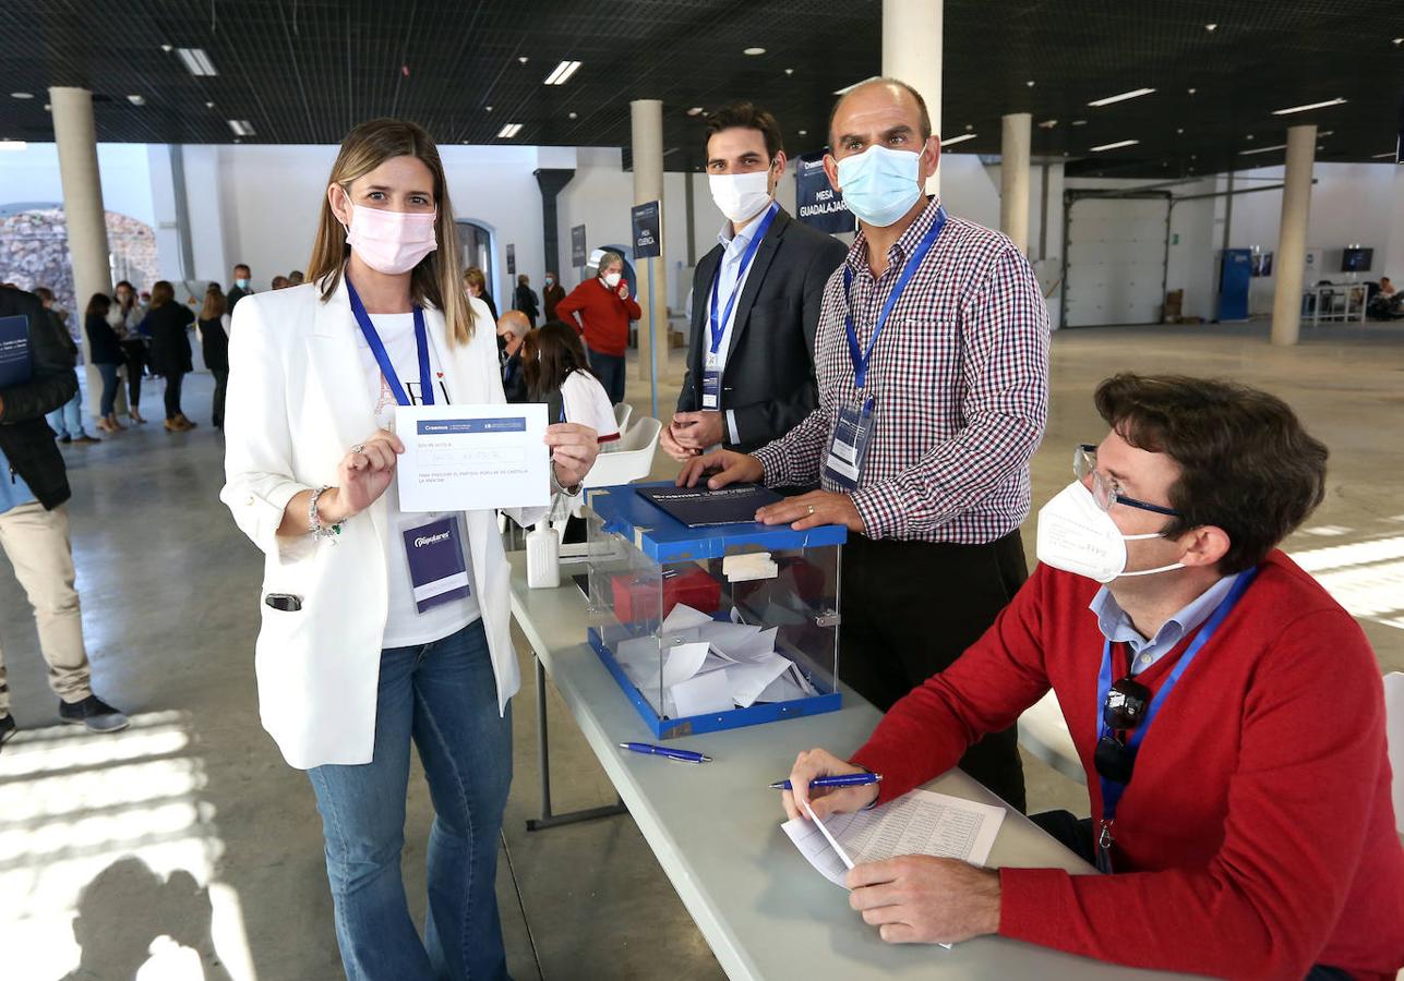
[[[69,500],[69,477],[63,455],[53,442],[53,429],[44,417],[73,397],[79,376],[73,372],[73,355],[49,324],[39,298],[0,286],[0,317],[14,314],[29,319],[29,380],[0,389],[4,403],[0,407],[0,452],[29,484],[39,504],[52,511]],[[10,474],[0,473],[0,480],[10,480]]]

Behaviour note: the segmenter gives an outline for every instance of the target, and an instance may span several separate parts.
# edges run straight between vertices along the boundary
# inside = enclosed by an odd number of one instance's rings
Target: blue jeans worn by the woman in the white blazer
[[[347,978],[505,978],[496,879],[512,716],[497,714],[482,620],[432,644],[382,651],[373,759],[307,770]],[[435,813],[423,942],[400,879],[411,738]]]

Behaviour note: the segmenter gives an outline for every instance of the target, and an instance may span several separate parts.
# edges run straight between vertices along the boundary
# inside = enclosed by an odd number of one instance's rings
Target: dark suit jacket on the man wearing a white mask
[[[717,244],[692,276],[692,344],[678,411],[702,407],[703,358],[710,341],[712,279],[722,261]],[[736,413],[736,434],[726,448],[743,453],[785,435],[819,404],[814,382],[814,330],[824,283],[842,264],[848,246],[802,225],[781,209],[761,240],[746,286],[736,302],[722,410]]]

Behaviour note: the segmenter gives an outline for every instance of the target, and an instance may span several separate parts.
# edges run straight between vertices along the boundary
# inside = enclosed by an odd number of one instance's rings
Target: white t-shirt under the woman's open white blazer
[[[400,376],[410,401],[416,406],[424,404],[424,393],[420,386],[420,355],[414,344],[414,314],[413,313],[372,313],[371,323],[375,333],[380,335],[395,373]],[[361,365],[365,368],[366,386],[371,390],[372,411],[375,424],[382,429],[395,431],[395,393],[380,375],[380,365],[365,342],[365,334],[357,330],[357,349],[361,352]],[[434,403],[448,404],[448,392],[444,386],[444,371],[434,345],[430,344],[430,373],[434,376]],[[409,559],[404,553],[404,532],[417,525],[427,525],[438,521],[442,514],[404,514],[400,511],[400,491],[397,480],[392,480],[385,488],[385,557],[389,566],[389,598],[390,612],[385,620],[385,639],[382,647],[414,647],[416,644],[430,644],[435,640],[452,636],[466,627],[480,616],[476,594],[469,594],[462,599],[452,599],[438,606],[431,606],[423,613],[414,602],[414,588],[410,581]],[[466,535],[468,528],[459,515],[459,535]],[[473,560],[468,552],[468,540],[463,540],[463,561],[468,568],[468,581],[472,588]]]

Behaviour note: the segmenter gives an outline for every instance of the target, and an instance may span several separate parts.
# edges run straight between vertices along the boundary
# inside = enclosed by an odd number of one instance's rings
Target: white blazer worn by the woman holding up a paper
[[[449,345],[444,314],[424,312],[455,404],[500,403],[496,330],[482,300],[473,340]],[[246,296],[229,331],[225,488],[219,497],[264,556],[254,648],[264,728],[298,769],[368,763],[375,745],[380,640],[389,610],[382,497],[334,542],[278,538],[303,490],[337,483],[347,451],[376,429],[345,283],[322,302],[313,283]],[[535,523],[545,509],[508,512]],[[497,675],[498,712],[521,685],[508,630],[508,568],[491,511],[465,512],[473,587]],[[270,592],[302,598],[282,612]]]

